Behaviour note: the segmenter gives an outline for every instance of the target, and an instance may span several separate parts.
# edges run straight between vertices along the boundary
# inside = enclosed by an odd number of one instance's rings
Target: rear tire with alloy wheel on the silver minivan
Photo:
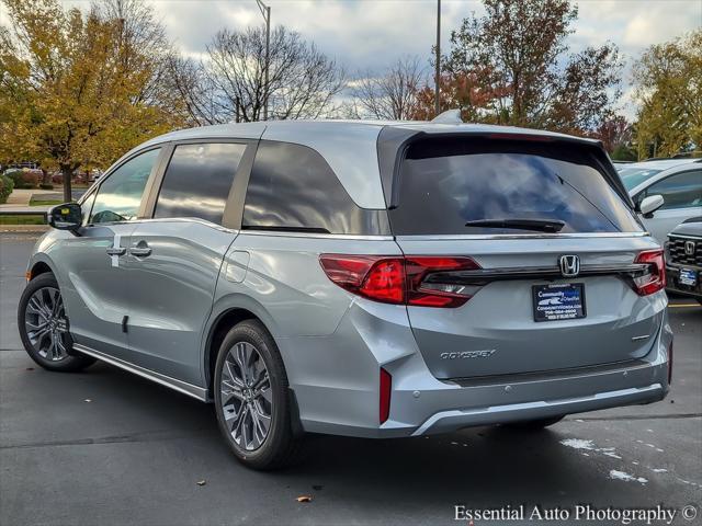
[[[303,437],[293,430],[295,405],[285,367],[261,322],[246,320],[227,333],[213,388],[219,430],[244,465],[271,470],[299,461]]]

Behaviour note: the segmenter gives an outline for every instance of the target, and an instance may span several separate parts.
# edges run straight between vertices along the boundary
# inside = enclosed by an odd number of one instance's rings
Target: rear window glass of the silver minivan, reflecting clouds
[[[563,222],[561,232],[641,230],[578,145],[424,139],[408,148],[398,184],[396,235],[529,233],[500,221]],[[466,225],[475,221],[495,225]]]

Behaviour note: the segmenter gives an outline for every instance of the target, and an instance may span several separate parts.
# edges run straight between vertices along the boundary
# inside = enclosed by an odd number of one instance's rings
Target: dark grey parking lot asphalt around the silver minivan
[[[210,405],[100,363],[80,374],[35,366],[15,320],[35,239],[0,235],[3,526],[455,524],[455,505],[526,506],[509,524],[541,524],[529,521],[533,506],[558,506],[570,516],[551,524],[582,524],[578,504],[661,505],[677,512],[671,524],[702,524],[702,307],[689,299],[671,300],[673,387],[663,402],[573,415],[539,433],[315,436],[305,464],[262,473],[229,454]]]

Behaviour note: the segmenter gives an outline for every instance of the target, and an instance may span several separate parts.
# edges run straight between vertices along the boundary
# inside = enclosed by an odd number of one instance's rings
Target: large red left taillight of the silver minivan
[[[451,273],[480,266],[471,258],[322,254],[319,262],[333,283],[375,301],[419,307],[460,307],[474,287]]]

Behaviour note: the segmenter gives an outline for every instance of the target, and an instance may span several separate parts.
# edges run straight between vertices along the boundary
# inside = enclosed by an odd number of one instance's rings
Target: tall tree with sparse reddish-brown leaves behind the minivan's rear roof
[[[451,33],[443,69],[473,76],[490,101],[489,122],[585,132],[612,115],[620,95],[616,46],[568,54],[577,19],[567,0],[484,0],[486,15]]]

